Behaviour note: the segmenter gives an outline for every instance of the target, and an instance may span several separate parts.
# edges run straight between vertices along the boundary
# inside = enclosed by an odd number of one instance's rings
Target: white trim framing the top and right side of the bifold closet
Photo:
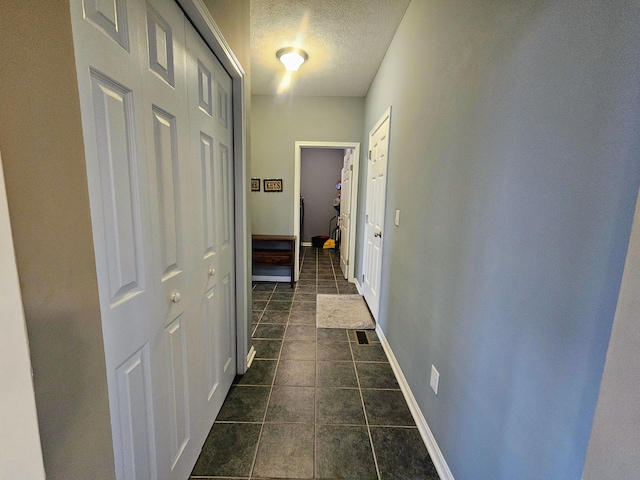
[[[205,43],[227,70],[233,82],[233,166],[234,217],[236,255],[236,370],[243,374],[249,368],[255,350],[250,344],[250,292],[251,271],[249,258],[248,184],[249,170],[246,158],[246,117],[244,104],[245,72],[222,36],[211,13],[202,0],[176,0],[193,23]]]

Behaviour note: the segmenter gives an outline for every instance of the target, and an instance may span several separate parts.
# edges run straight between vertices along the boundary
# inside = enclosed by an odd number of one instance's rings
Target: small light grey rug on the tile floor
[[[376,324],[361,295],[318,294],[316,327],[374,329]]]

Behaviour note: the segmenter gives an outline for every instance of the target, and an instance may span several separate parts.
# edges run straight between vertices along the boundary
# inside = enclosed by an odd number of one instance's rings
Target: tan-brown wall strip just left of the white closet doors
[[[69,4],[2,2],[0,31],[0,148],[47,478],[113,479]]]

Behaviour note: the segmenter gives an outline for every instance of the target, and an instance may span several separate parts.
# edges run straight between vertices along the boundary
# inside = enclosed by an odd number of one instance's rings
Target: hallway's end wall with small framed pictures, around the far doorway
[[[251,193],[252,231],[292,235],[295,142],[359,142],[364,98],[254,95],[251,109],[251,176],[283,180],[282,193]]]

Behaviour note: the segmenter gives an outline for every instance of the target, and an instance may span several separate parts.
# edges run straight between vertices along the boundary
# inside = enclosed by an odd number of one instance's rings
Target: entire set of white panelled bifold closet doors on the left
[[[184,479],[236,371],[231,78],[172,0],[71,13],[117,476]]]

